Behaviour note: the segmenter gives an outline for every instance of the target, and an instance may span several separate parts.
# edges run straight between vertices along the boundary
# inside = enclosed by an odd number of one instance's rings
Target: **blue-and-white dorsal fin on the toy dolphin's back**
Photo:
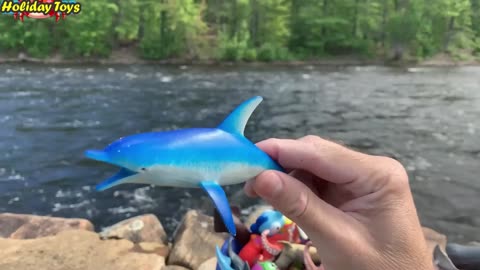
[[[232,113],[230,113],[225,120],[223,120],[218,128],[232,134],[239,134],[243,136],[248,119],[252,115],[253,111],[257,108],[258,104],[262,102],[262,100],[262,97],[256,96],[244,101]]]

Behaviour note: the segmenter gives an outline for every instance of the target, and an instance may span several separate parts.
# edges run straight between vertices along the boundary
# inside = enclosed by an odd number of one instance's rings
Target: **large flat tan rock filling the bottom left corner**
[[[161,270],[165,258],[134,250],[128,240],[101,240],[82,230],[55,236],[0,239],[2,270]]]

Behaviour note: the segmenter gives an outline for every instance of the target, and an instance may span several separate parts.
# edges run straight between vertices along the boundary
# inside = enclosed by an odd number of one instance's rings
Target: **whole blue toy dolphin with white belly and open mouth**
[[[124,183],[202,187],[230,234],[236,235],[230,206],[220,186],[245,182],[264,170],[283,171],[243,135],[262,100],[257,96],[243,102],[217,128],[142,133],[120,138],[104,150],[87,150],[88,158],[121,167],[97,185],[97,190]]]

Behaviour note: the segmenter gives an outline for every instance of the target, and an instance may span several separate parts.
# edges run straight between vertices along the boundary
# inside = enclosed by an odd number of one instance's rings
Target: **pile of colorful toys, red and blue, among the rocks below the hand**
[[[318,263],[308,237],[282,213],[265,210],[249,228],[234,219],[236,236],[216,248],[217,270],[309,269]],[[215,231],[227,231],[218,213]]]

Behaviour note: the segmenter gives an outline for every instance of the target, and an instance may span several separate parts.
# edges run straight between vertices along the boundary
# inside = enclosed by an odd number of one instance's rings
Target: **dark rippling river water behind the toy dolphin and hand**
[[[0,212],[90,219],[100,230],[143,213],[171,233],[200,189],[121,185],[86,149],[140,132],[214,127],[265,98],[252,141],[317,134],[407,168],[421,222],[452,241],[480,240],[480,67],[0,66]],[[233,204],[257,201],[227,188]]]

